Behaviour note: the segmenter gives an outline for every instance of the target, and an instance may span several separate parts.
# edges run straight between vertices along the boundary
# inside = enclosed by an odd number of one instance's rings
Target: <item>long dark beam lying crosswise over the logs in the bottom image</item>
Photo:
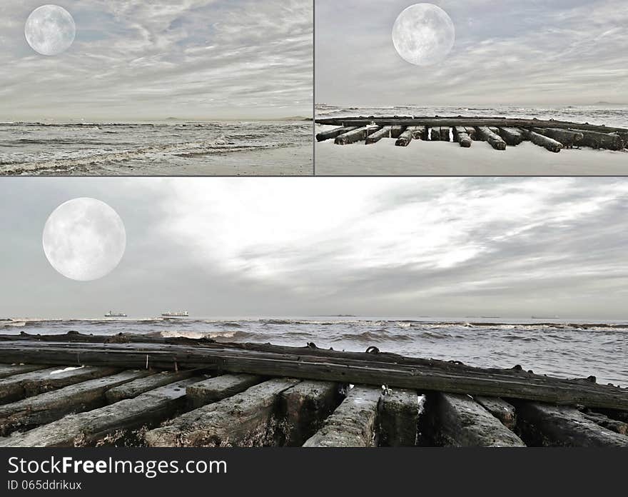
[[[257,343],[204,343],[203,346],[156,343],[0,342],[8,361],[85,364],[124,368],[215,368],[230,373],[287,376],[340,383],[386,384],[391,388],[445,391],[522,398],[590,408],[628,411],[625,388],[535,375],[515,369],[482,369],[447,361],[408,358],[393,353],[356,353],[323,348]]]

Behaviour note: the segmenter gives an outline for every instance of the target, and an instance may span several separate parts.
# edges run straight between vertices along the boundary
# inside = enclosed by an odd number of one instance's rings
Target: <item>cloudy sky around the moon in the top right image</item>
[[[318,104],[574,105],[628,102],[625,0],[436,0],[450,56],[408,64],[391,34],[410,0],[318,0]]]

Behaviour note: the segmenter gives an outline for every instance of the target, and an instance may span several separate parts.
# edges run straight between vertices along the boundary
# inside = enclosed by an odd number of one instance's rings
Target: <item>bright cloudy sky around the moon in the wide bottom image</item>
[[[92,282],[41,245],[80,196],[126,226]],[[626,179],[16,178],[0,198],[1,317],[628,318]]]

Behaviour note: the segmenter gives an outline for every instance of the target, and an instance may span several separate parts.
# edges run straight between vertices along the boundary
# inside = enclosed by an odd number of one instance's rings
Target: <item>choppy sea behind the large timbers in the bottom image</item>
[[[628,387],[628,323],[538,318],[101,318],[0,320],[0,334],[68,331],[113,335],[210,337],[221,342],[256,342],[365,351],[462,361],[471,366],[511,368],[565,378],[597,376],[599,383]]]

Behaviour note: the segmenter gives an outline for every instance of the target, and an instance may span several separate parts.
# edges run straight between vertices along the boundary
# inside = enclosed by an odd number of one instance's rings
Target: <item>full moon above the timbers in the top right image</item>
[[[397,53],[410,64],[431,66],[447,57],[454,46],[456,30],[447,12],[434,4],[409,6],[393,26]]]

